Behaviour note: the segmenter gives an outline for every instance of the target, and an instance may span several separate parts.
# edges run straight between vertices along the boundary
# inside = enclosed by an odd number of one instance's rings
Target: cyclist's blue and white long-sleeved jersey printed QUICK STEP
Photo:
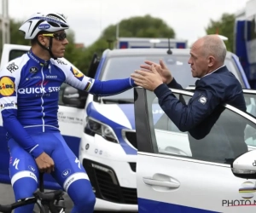
[[[58,130],[61,83],[96,95],[115,95],[131,89],[131,78],[99,81],[84,76],[63,60],[42,60],[32,50],[9,61],[0,72],[3,127],[26,152],[37,158],[44,152],[31,133]]]

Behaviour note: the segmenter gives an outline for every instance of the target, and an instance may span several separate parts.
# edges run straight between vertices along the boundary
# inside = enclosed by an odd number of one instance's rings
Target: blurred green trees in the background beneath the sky
[[[30,45],[30,41],[24,39],[23,33],[19,31],[22,21],[10,20],[10,43]],[[102,55],[104,49],[113,49],[116,38],[116,28],[119,25],[119,37],[175,37],[175,31],[168,26],[164,20],[150,15],[135,16],[121,20],[116,25],[105,28],[102,35],[94,43],[85,48],[77,48],[75,45],[74,32],[67,30],[67,45],[65,58],[77,66],[80,71],[87,73],[90,60],[94,53]],[[220,34],[228,37],[225,41],[227,49],[233,52],[234,42],[234,14],[223,14],[219,20],[210,20],[206,34]]]

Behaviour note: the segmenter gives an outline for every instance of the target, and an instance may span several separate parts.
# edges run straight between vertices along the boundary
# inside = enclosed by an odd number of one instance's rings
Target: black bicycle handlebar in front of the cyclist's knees
[[[38,200],[41,200],[42,204],[44,203],[49,206],[49,210],[52,213],[58,213],[58,210],[55,209],[55,205],[53,203],[55,200],[59,200],[62,195],[63,195],[62,190],[56,190],[49,193],[41,193],[40,191],[36,191],[35,193],[33,193],[34,197],[19,199],[17,202],[13,204],[6,204],[6,205],[0,204],[0,212],[11,213],[12,210],[14,210],[15,208],[18,208],[26,204],[35,204],[38,202]]]

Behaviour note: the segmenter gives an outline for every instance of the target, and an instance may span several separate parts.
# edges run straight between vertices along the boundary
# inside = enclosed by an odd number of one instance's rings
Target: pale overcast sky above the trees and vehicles
[[[189,44],[206,35],[210,19],[236,13],[248,0],[9,0],[9,16],[26,20],[46,9],[63,13],[75,32],[76,43],[90,45],[102,30],[131,16],[150,14],[172,26],[176,37]]]

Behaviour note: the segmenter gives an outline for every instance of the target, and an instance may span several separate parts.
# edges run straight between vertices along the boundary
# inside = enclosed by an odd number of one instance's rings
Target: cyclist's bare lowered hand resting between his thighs
[[[55,170],[55,162],[49,157],[47,153],[42,153],[36,158],[38,170],[40,172],[50,173]]]

